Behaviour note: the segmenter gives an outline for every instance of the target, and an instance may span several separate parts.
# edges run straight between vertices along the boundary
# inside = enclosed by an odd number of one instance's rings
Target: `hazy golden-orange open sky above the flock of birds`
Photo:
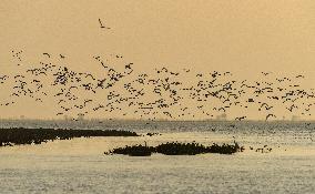
[[[80,71],[99,71],[94,54],[122,54],[139,71],[304,73],[306,88],[315,85],[314,0],[1,0],[0,29],[3,72],[12,71],[11,51],[23,50],[28,63],[62,53]],[[43,108],[0,108],[0,116],[37,118]]]

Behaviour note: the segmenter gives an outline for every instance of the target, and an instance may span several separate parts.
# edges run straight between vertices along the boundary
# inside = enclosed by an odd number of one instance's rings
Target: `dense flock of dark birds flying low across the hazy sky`
[[[63,116],[108,112],[149,120],[220,119],[234,110],[238,112],[234,120],[242,121],[253,111],[264,120],[282,119],[286,113],[311,116],[315,105],[314,89],[303,88],[302,74],[277,78],[262,72],[251,81],[232,72],[194,73],[189,69],[136,73],[122,55],[94,55],[91,60],[100,69],[98,75],[67,67],[63,54],[42,53],[32,65],[26,64],[22,55],[23,51],[12,51],[18,73],[0,74],[0,88],[7,91],[0,109],[30,98],[37,103],[54,103],[55,114]],[[116,65],[119,62],[122,65]]]

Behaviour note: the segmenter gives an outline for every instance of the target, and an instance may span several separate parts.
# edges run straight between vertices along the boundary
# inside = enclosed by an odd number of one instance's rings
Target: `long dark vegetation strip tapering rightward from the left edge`
[[[0,129],[0,146],[41,144],[53,140],[91,136],[139,136],[135,132],[118,130]]]

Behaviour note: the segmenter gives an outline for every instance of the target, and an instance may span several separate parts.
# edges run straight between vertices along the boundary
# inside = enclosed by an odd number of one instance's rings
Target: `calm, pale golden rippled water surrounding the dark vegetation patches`
[[[314,193],[315,123],[1,122],[0,126],[123,129],[158,136],[92,137],[0,149],[0,193]],[[148,142],[237,142],[234,155],[131,157],[109,149]],[[271,153],[255,149],[267,145]],[[250,146],[254,147],[250,150]]]

